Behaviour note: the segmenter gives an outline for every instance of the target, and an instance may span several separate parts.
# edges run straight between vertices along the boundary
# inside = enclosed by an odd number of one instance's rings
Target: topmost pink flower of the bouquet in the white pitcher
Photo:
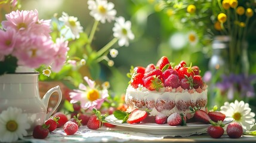
[[[12,11],[5,14],[7,20],[2,21],[5,30],[12,28],[19,33],[26,33],[38,21],[38,11]]]

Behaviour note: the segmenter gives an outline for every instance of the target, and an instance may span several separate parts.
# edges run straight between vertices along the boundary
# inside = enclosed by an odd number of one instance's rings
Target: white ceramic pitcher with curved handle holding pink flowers
[[[4,74],[0,76],[0,113],[8,107],[17,107],[27,114],[32,135],[36,125],[42,125],[46,119],[56,110],[61,102],[62,94],[60,86],[51,88],[41,99],[38,89],[38,72],[25,72],[15,74]],[[53,94],[58,93],[58,102],[49,113],[47,113],[48,102]]]

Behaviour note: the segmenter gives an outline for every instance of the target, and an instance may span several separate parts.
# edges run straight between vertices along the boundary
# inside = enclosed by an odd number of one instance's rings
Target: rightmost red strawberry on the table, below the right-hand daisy
[[[227,126],[227,135],[230,138],[240,138],[243,134],[243,128],[239,123],[233,122]]]

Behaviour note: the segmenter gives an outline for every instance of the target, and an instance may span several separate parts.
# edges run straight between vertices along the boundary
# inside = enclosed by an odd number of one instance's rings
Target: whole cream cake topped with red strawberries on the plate
[[[199,71],[198,66],[187,66],[184,61],[172,68],[165,56],[156,65],[133,68],[125,94],[128,111],[146,110],[149,116],[183,113],[192,118],[189,107],[204,110],[207,104],[207,85]]]

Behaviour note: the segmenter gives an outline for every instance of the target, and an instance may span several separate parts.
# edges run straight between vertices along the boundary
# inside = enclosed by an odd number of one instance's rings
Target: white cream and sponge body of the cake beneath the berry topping
[[[207,104],[207,88],[202,89],[172,89],[161,88],[159,91],[149,91],[144,87],[132,88],[128,86],[125,102],[129,110],[138,108],[140,110],[150,110],[150,116],[156,116],[159,113],[169,116],[172,113],[183,113],[190,119],[193,115],[190,114],[189,106],[201,107],[205,109]]]

